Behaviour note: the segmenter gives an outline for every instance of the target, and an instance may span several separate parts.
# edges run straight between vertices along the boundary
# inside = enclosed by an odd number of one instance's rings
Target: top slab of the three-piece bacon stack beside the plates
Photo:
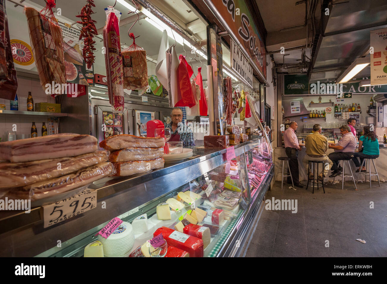
[[[99,143],[101,148],[116,151],[125,148],[160,148],[164,147],[164,138],[139,137],[129,134],[119,134],[106,138]]]

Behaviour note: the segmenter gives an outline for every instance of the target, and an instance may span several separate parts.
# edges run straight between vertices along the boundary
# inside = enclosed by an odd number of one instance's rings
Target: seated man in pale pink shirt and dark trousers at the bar
[[[329,177],[337,177],[341,175],[342,167],[339,166],[340,160],[351,160],[354,157],[354,152],[358,142],[356,137],[351,133],[351,129],[348,125],[342,125],[340,127],[340,133],[342,137],[339,143],[329,143],[328,147],[334,149],[334,153],[328,155],[329,159],[333,162],[332,165],[332,174]],[[356,167],[360,167],[358,159],[354,159]]]

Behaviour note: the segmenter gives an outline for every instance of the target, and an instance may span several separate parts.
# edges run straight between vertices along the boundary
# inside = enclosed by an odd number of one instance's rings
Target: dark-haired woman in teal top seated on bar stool
[[[357,160],[356,157],[360,158],[360,166],[359,166],[359,169],[356,170],[356,173],[360,172],[360,170],[362,172],[367,171],[365,165],[363,165],[363,168],[360,169],[364,159],[374,159],[374,158],[378,158],[379,156],[378,136],[376,136],[374,131],[370,131],[369,125],[364,126],[363,130],[364,130],[364,135],[360,136],[359,138],[359,151],[354,153],[356,160]]]

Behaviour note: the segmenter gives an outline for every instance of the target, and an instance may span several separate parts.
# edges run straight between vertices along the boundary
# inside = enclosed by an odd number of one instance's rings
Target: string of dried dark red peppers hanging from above
[[[91,7],[96,7],[94,5],[94,0],[86,0],[87,4],[84,5],[82,10],[80,10],[80,14],[76,17],[80,18],[80,21],[77,21],[78,24],[82,24],[82,30],[80,31],[79,40],[84,38],[84,48],[82,50],[83,58],[87,64],[87,68],[90,68],[92,63],[94,63],[94,44],[96,43],[93,40],[93,37],[97,34],[97,29],[95,23],[97,21],[91,19],[91,14],[94,12],[91,10]]]

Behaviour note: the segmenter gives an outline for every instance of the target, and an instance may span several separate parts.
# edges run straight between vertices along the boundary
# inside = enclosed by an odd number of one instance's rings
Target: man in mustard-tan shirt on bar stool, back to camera
[[[308,170],[308,161],[324,161],[324,165],[322,166],[321,172],[319,173],[318,180],[323,180],[323,172],[324,177],[327,176],[328,170],[332,167],[332,161],[329,160],[327,156],[328,150],[328,139],[321,134],[321,125],[315,124],[313,125],[313,134],[309,134],[305,138],[305,147],[307,148],[307,155],[303,158],[303,164],[306,170]],[[326,167],[326,164],[329,164],[329,167]],[[313,179],[312,169],[309,169],[308,180]]]

